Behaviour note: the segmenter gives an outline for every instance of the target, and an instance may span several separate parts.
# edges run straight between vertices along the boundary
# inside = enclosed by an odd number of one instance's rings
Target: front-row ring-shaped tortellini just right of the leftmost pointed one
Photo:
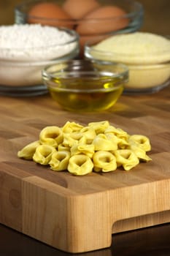
[[[36,148],[33,160],[41,165],[48,165],[55,151],[56,149],[53,146],[40,145]]]

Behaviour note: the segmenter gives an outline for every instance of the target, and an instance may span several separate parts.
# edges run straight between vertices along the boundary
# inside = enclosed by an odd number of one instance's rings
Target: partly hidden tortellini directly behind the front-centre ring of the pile
[[[94,145],[88,145],[88,144],[77,144],[72,146],[70,149],[71,155],[75,154],[85,154],[88,157],[93,157],[94,154]]]

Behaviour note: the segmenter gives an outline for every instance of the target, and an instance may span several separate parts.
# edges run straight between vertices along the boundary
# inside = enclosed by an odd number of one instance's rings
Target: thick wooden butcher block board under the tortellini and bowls
[[[0,97],[0,222],[72,253],[109,247],[114,233],[169,222],[169,99],[166,88],[123,95],[104,113],[69,113],[49,95]],[[152,161],[130,171],[72,176],[17,157],[46,126],[104,120],[149,137]]]

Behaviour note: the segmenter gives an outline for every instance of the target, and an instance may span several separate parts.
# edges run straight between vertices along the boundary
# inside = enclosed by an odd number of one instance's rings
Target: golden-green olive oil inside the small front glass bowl
[[[58,84],[58,86],[56,86]],[[54,86],[53,86],[54,85]],[[53,80],[49,91],[53,99],[66,110],[102,111],[111,108],[123,92],[117,78],[59,78]]]

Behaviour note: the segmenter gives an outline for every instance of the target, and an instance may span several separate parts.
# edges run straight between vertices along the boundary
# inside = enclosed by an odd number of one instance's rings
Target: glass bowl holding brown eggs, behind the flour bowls
[[[142,4],[134,0],[32,0],[15,7],[15,23],[74,29],[82,50],[90,39],[139,30],[143,17]]]

